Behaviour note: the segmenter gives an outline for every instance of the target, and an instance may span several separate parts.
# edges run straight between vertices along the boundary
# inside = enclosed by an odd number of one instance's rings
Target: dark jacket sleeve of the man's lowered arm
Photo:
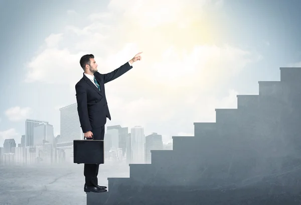
[[[88,116],[87,93],[86,90],[79,84],[75,85],[75,90],[79,122],[83,133],[85,133],[92,130]]]

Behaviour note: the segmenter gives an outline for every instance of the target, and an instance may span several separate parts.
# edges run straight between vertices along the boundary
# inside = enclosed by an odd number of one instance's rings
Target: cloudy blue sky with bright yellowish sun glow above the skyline
[[[25,119],[60,133],[59,108],[73,104],[79,59],[94,54],[107,73],[142,51],[142,61],[106,84],[112,121],[145,135],[193,135],[258,94],[258,80],[301,66],[298,0],[0,1],[0,146],[21,142]]]

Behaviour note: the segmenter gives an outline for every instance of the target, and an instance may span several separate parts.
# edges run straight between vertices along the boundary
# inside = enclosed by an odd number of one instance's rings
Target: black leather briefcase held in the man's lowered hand
[[[103,164],[103,140],[73,140],[73,161],[77,164]]]

